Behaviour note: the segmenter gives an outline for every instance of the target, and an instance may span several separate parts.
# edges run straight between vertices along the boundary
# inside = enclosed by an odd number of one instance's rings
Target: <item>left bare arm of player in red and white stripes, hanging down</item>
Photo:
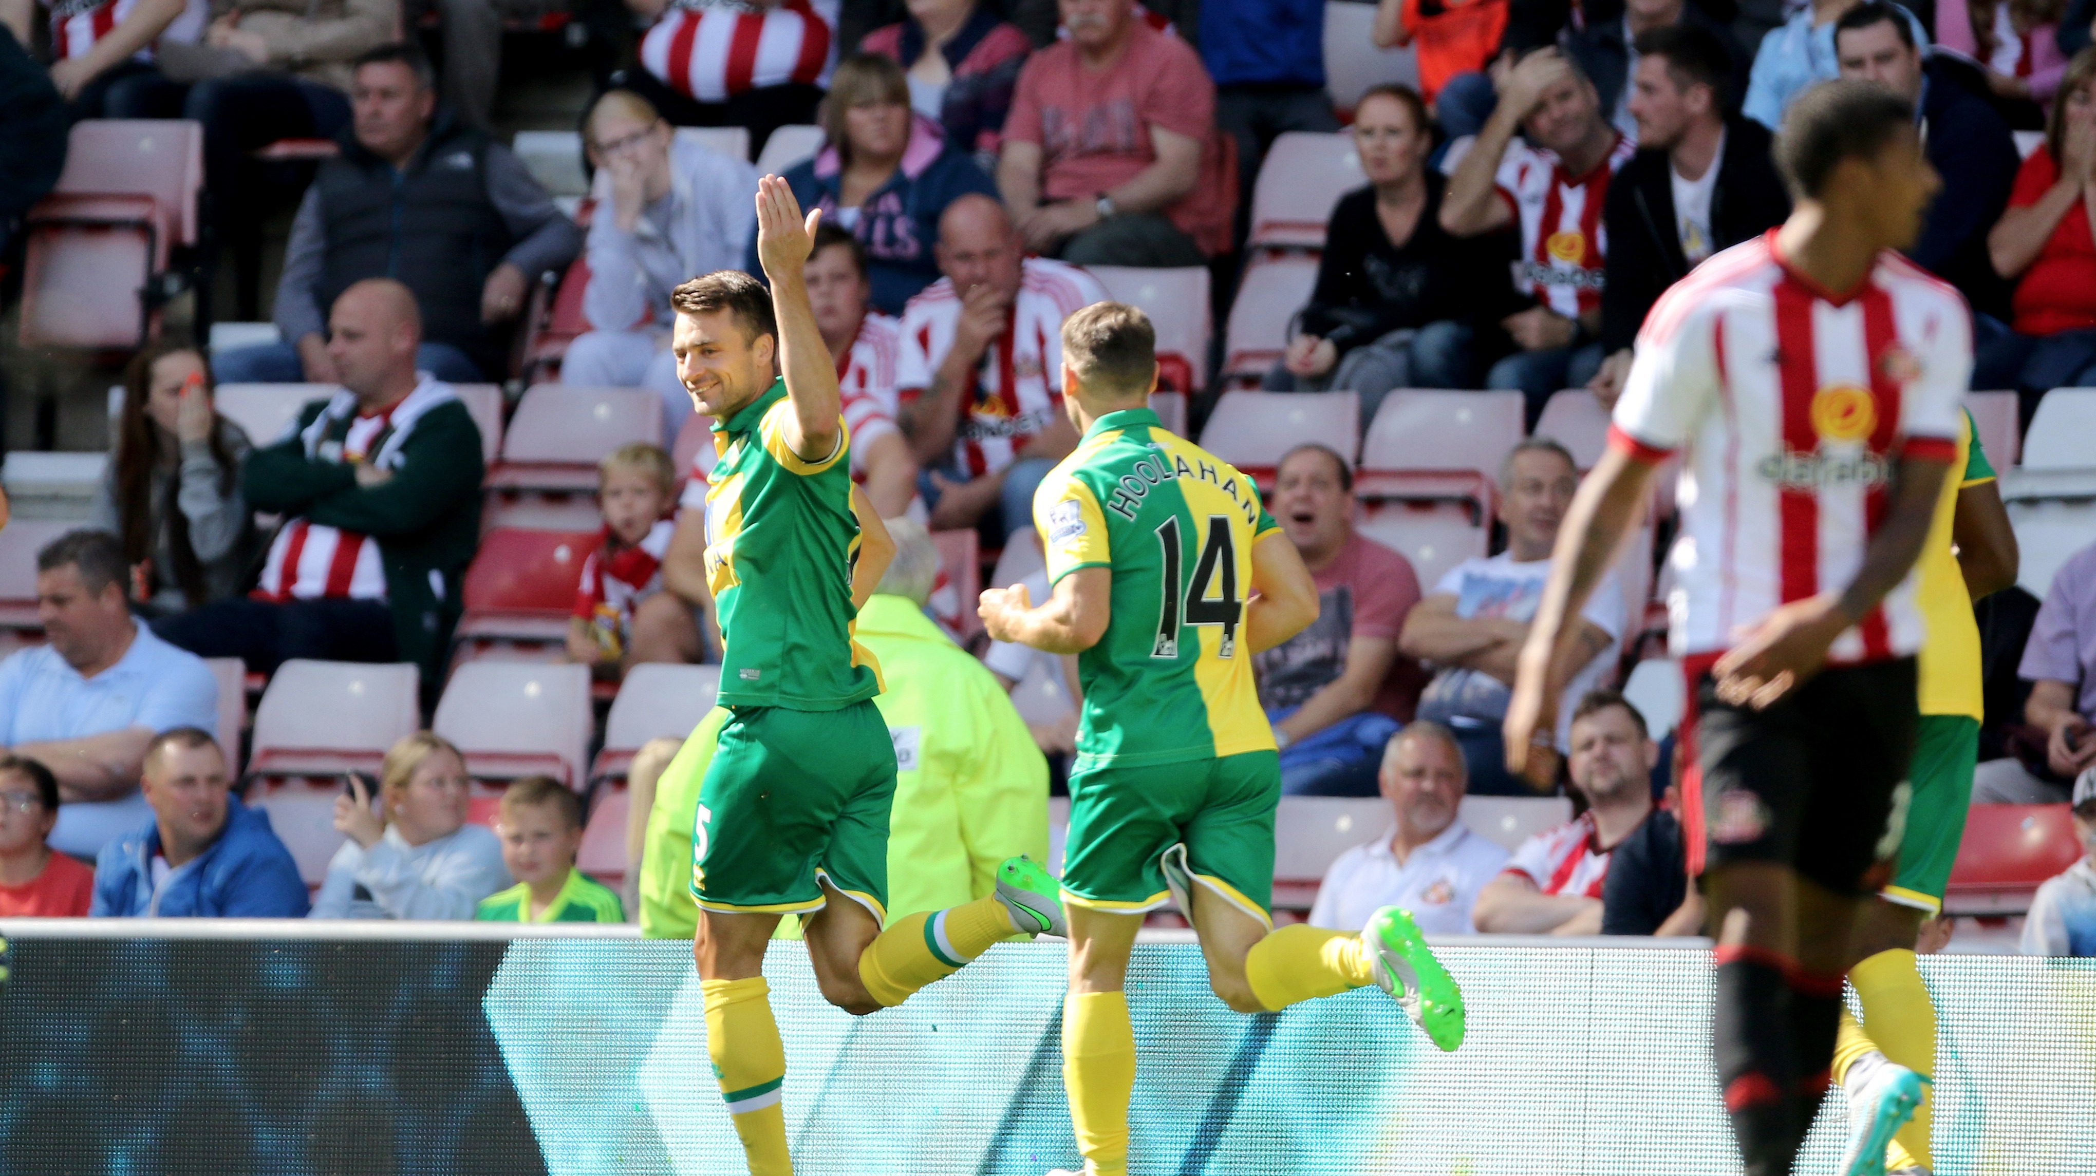
[[[1587,665],[1574,658],[1587,629],[1595,629],[1580,610],[1616,566],[1616,553],[1637,520],[1656,465],[1658,457],[1650,453],[1610,444],[1572,495],[1566,522],[1557,528],[1557,549],[1551,551],[1551,579],[1543,585],[1536,618],[1528,625],[1528,641],[1515,665],[1505,723],[1507,771],[1520,776],[1528,765],[1530,744],[1549,744],[1557,729],[1566,667]]]

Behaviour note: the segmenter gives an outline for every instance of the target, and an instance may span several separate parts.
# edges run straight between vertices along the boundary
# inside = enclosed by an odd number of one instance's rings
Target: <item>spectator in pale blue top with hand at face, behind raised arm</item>
[[[677,143],[669,122],[633,90],[610,90],[589,111],[597,212],[589,222],[589,331],[568,344],[566,384],[652,388],[662,436],[692,415],[669,352],[669,291],[692,275],[742,268],[757,228],[757,168]]]

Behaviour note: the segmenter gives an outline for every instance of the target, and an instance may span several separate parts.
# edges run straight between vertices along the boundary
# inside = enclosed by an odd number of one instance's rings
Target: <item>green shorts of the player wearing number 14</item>
[[[1279,803],[1272,750],[1073,771],[1063,897],[1107,912],[1157,910],[1172,897],[1159,862],[1184,843],[1195,880],[1272,922]]]

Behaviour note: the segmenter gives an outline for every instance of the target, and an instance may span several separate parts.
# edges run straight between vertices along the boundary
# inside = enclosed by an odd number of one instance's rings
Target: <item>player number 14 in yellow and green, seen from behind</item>
[[[1033,495],[1050,597],[989,589],[979,610],[1000,641],[1077,654],[1084,683],[1063,1082],[1090,1176],[1128,1172],[1136,1040],[1121,983],[1142,912],[1167,895],[1239,1012],[1375,983],[1440,1048],[1463,1040],[1461,994],[1406,912],[1383,908],[1360,935],[1272,929],[1281,763],[1251,654],[1316,618],[1316,585],[1251,478],[1157,423],[1155,342],[1117,302],[1063,323],[1063,405],[1084,440]]]

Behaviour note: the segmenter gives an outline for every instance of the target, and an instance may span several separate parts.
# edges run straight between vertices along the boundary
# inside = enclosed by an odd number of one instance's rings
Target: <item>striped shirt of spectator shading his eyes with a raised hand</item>
[[[1551,151],[1515,140],[1499,159],[1499,199],[1522,222],[1522,260],[1513,285],[1536,302],[1576,319],[1601,306],[1601,268],[1608,258],[1608,180],[1631,161],[1637,145],[1616,136],[1608,159],[1585,176],[1566,176]]]

